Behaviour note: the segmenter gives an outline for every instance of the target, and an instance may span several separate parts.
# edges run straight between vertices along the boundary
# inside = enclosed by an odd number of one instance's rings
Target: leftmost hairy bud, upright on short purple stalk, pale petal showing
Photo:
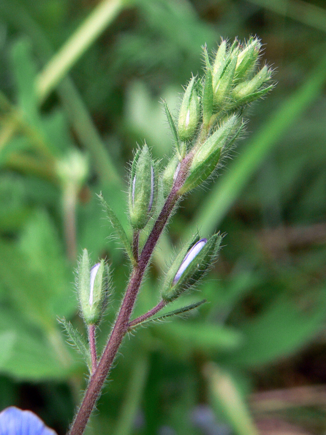
[[[86,325],[97,325],[106,308],[110,282],[108,265],[102,259],[90,268],[87,249],[83,250],[77,274],[77,293]]]

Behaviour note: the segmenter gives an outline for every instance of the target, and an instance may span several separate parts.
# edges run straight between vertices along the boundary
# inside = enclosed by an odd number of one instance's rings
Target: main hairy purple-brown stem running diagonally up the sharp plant
[[[175,183],[173,184],[172,190],[167,197],[166,202],[163,205],[162,211],[160,212],[160,215],[153,226],[153,230],[151,231],[143,248],[143,251],[140,254],[139,262],[133,268],[119,314],[116,318],[116,323],[113,327],[109,341],[107,342],[106,348],[97,365],[97,368],[92,374],[92,377],[90,378],[90,383],[86,390],[86,394],[80,406],[79,412],[75,418],[75,421],[73,422],[72,428],[70,430],[70,435],[82,435],[84,432],[96,400],[100,395],[103,383],[110,371],[113,360],[116,357],[116,353],[120,347],[123,337],[128,331],[130,315],[133,311],[133,306],[136,301],[137,293],[140,288],[144,272],[150,261],[150,257],[153,254],[156,243],[160,238],[163,228],[165,227],[170,217],[171,211],[173,210],[174,205],[180,197],[179,191],[186,180],[189,165],[190,158],[186,156],[181,162],[180,171],[178,176],[176,177]]]

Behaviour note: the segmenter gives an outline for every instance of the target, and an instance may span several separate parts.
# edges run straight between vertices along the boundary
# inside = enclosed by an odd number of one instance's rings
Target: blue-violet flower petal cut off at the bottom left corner
[[[0,435],[57,435],[31,411],[10,406],[0,412]]]

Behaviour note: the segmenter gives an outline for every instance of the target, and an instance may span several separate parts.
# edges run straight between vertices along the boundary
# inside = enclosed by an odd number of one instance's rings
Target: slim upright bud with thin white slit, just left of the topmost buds
[[[190,80],[181,104],[178,120],[178,132],[181,141],[190,141],[198,127],[200,107],[194,88],[195,80],[195,77]]]

